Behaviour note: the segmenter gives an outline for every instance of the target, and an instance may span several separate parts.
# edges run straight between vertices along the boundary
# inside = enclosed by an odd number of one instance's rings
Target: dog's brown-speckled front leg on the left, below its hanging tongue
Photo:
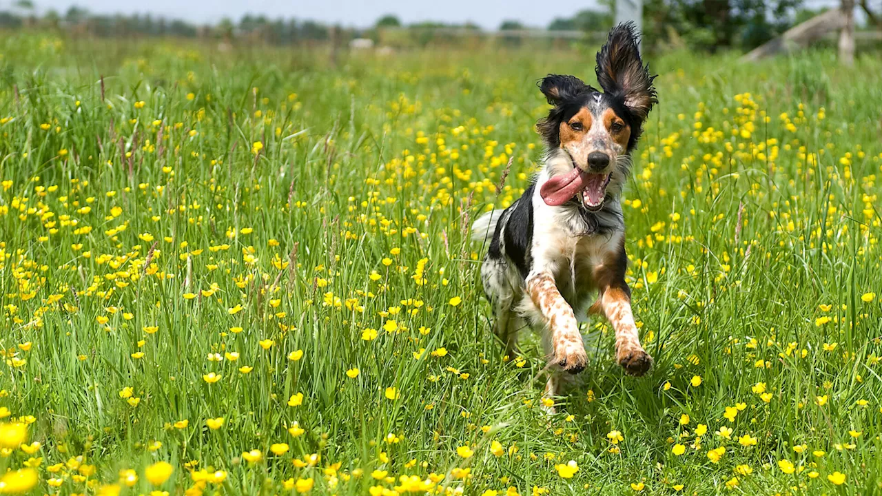
[[[579,323],[572,307],[557,290],[552,274],[549,271],[530,274],[527,277],[527,292],[545,324],[543,341],[550,343],[549,361],[566,372],[581,372],[588,357],[582,334],[579,334]]]

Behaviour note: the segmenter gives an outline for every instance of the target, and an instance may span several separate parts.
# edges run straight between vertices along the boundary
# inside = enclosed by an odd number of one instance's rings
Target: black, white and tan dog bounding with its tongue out
[[[506,352],[522,322],[542,334],[549,359],[546,396],[560,393],[561,372],[581,372],[587,353],[577,311],[602,314],[616,333],[616,360],[639,376],[653,358],[639,342],[624,280],[621,193],[649,111],[658,102],[632,23],[609,32],[597,52],[602,92],[574,76],[549,74],[538,86],[552,108],[536,124],[545,142],[542,172],[504,211],[483,214],[473,238],[490,246],[481,278]]]

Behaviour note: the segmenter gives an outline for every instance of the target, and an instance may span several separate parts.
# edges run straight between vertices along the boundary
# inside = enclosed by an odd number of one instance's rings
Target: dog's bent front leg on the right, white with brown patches
[[[592,312],[602,312],[616,330],[616,362],[631,375],[643,375],[653,366],[640,344],[637,325],[631,311],[631,290],[624,278],[601,288]]]

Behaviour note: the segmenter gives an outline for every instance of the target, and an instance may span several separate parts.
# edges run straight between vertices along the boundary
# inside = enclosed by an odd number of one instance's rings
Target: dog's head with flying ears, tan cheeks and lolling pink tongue
[[[575,76],[549,74],[539,83],[553,105],[537,124],[549,152],[561,149],[573,169],[542,186],[542,198],[560,205],[581,194],[589,210],[603,206],[606,187],[636,147],[649,110],[657,103],[648,65],[643,64],[632,23],[620,24],[597,52],[597,81],[603,92]],[[565,172],[564,174],[560,174]]]

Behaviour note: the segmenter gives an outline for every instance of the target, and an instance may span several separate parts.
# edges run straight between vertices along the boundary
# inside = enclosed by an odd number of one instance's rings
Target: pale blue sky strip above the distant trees
[[[0,9],[9,7],[12,2],[0,0]],[[551,3],[537,0],[34,0],[34,4],[39,11],[55,9],[62,14],[76,4],[93,13],[151,13],[198,24],[213,24],[224,17],[238,20],[251,13],[264,14],[269,19],[313,19],[327,24],[367,27],[391,13],[405,24],[422,20],[471,21],[484,29],[496,29],[506,19],[519,20],[525,26],[545,27],[552,19],[597,8],[596,0]]]

